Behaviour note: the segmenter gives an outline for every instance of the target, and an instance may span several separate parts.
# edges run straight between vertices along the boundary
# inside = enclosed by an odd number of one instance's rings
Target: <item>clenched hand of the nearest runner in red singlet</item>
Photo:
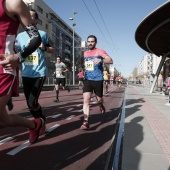
[[[19,65],[19,58],[16,54],[0,54],[0,65],[8,71],[13,71]]]

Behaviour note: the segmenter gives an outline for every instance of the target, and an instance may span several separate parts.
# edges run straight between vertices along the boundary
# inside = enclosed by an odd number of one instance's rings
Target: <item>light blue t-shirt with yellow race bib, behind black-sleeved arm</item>
[[[39,30],[39,33],[44,46],[47,46],[49,43],[49,37],[47,33],[41,30]],[[30,38],[26,32],[18,34],[15,43],[18,51],[24,50],[29,40]],[[44,76],[47,76],[45,51],[42,51],[38,48],[22,63],[22,77],[36,78]]]

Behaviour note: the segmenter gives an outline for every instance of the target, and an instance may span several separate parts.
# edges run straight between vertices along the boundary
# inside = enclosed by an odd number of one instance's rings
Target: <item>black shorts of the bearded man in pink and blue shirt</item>
[[[103,97],[103,80],[93,81],[93,80],[84,80],[83,93],[92,92],[98,96]]]

